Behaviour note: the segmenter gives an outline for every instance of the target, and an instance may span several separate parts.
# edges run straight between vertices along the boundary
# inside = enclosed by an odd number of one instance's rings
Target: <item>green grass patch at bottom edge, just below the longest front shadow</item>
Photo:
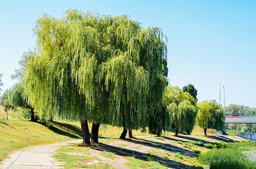
[[[141,159],[137,159],[134,157],[128,157],[127,158],[129,162],[124,163],[125,166],[128,166],[132,169],[137,169],[137,168],[166,168],[159,164],[158,162],[155,161],[143,161]]]

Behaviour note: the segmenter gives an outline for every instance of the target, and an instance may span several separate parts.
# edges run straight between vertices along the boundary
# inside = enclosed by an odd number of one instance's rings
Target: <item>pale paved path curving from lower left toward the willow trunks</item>
[[[10,158],[3,159],[3,161],[0,162],[0,169],[62,168],[62,165],[64,165],[64,163],[58,162],[55,158],[51,156],[60,146],[75,143],[83,143],[83,140],[63,141],[53,144],[29,146],[27,148],[19,149],[10,153]]]

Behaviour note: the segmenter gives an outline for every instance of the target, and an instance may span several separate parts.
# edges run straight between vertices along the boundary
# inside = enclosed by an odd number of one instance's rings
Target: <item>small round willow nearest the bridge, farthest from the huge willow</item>
[[[207,128],[223,130],[224,127],[224,110],[220,108],[220,104],[216,100],[203,101],[197,104],[198,114],[197,123],[203,128],[205,135]]]

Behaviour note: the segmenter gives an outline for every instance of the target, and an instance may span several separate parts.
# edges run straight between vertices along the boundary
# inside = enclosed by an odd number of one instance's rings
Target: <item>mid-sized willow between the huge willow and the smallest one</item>
[[[170,114],[170,128],[175,128],[175,135],[177,136],[179,131],[188,131],[189,134],[196,123],[196,99],[188,92],[183,93],[179,87],[167,86],[163,102],[167,105],[167,112]]]

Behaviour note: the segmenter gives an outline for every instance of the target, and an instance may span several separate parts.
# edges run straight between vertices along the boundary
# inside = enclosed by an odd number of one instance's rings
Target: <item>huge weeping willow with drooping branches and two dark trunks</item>
[[[33,32],[38,53],[24,77],[29,101],[44,117],[80,121],[84,143],[88,121],[97,142],[101,123],[137,130],[165,115],[167,48],[159,28],[142,29],[125,15],[68,10],[61,19],[42,16]]]

